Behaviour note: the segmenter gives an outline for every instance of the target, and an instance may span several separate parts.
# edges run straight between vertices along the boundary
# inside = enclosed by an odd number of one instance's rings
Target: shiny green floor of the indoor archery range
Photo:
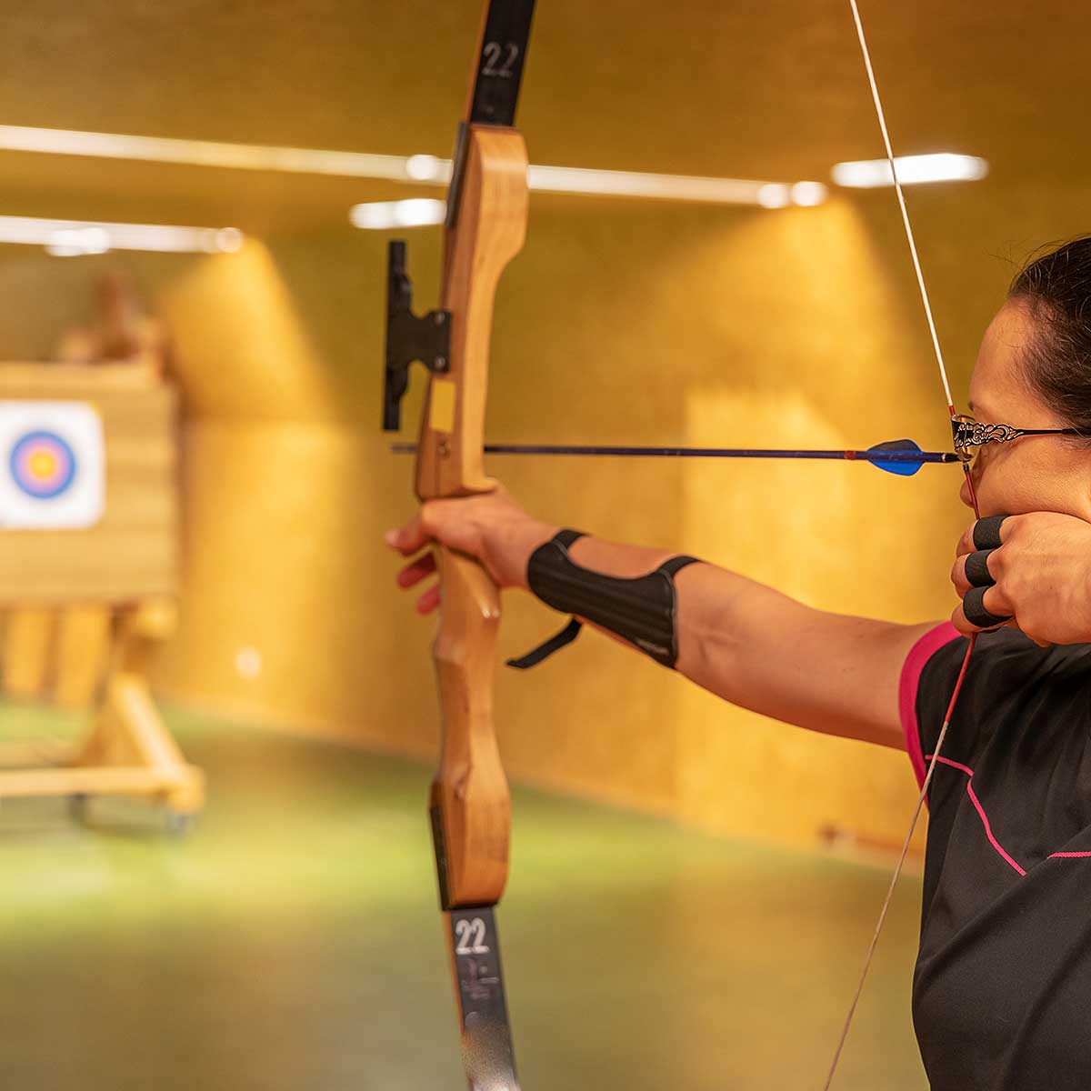
[[[0,1087],[463,1091],[429,770],[177,709],[196,831],[99,801],[0,812]],[[56,720],[3,710],[5,734]],[[500,912],[524,1091],[818,1089],[886,876],[515,792]],[[925,1087],[920,884],[837,1087]]]

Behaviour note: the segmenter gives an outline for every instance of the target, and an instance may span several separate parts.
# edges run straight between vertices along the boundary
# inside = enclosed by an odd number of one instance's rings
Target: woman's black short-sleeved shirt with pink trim
[[[923,777],[967,642],[901,681]],[[1091,645],[981,636],[928,789],[913,1023],[933,1091],[1091,1089]]]

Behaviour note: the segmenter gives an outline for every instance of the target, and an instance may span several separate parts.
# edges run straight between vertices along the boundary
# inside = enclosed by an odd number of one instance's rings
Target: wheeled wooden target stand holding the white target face
[[[184,830],[204,803],[204,777],[187,763],[152,697],[149,654],[175,627],[178,584],[177,396],[154,346],[125,339],[116,281],[104,285],[99,331],[123,361],[0,363],[0,404],[91,405],[103,423],[106,508],[85,529],[0,529],[0,679],[13,700],[87,707],[76,745],[0,743],[0,804],[68,796],[76,814],[98,795],[141,796]],[[110,329],[111,320],[113,329]],[[149,326],[136,327],[151,332]],[[79,360],[109,351],[98,331],[62,345]],[[17,708],[4,714],[11,722]],[[8,730],[4,736],[10,738]]]

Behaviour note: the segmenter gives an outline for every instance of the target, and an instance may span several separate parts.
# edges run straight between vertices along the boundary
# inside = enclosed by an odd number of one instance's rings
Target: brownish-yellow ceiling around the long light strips
[[[36,0],[0,15],[0,123],[447,155],[480,0]],[[899,152],[1081,184],[1080,3],[862,0]],[[880,154],[847,0],[538,0],[536,163],[825,179]],[[0,153],[0,212],[343,226],[391,182]]]

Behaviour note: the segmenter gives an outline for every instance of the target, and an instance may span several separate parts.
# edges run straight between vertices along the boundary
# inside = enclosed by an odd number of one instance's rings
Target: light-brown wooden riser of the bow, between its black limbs
[[[493,300],[526,237],[527,153],[519,133],[470,125],[461,161],[441,299],[451,315],[451,356],[448,370],[429,381],[417,448],[422,501],[495,488],[482,465]],[[507,877],[511,818],[492,720],[500,596],[476,561],[443,547],[435,558],[443,606],[432,656],[443,742],[431,803],[443,842],[441,894],[444,909],[490,906]]]

